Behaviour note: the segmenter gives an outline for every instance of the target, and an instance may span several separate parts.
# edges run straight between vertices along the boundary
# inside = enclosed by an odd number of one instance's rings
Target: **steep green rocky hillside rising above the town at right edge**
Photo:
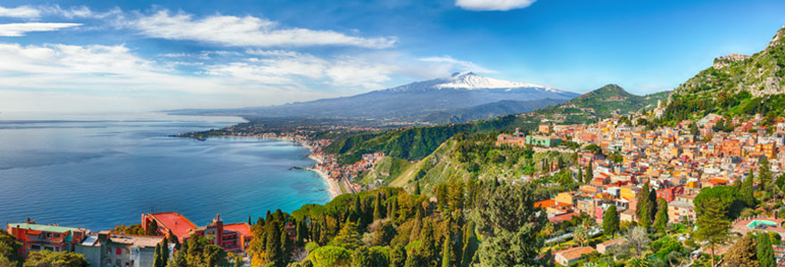
[[[709,113],[782,115],[785,106],[785,28],[765,49],[752,56],[716,58],[712,67],[680,85],[671,94],[665,121],[703,117]]]

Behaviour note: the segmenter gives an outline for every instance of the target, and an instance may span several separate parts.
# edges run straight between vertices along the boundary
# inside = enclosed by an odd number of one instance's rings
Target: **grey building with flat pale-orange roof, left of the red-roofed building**
[[[148,267],[153,266],[155,246],[161,244],[163,237],[135,236],[101,231],[87,236],[78,244],[74,252],[85,255],[90,266],[107,267]],[[173,251],[174,244],[169,244]]]

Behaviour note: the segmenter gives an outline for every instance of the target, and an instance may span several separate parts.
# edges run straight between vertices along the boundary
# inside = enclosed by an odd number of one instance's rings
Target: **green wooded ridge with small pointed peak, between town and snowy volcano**
[[[543,121],[559,124],[583,124],[615,113],[628,114],[644,108],[654,108],[657,100],[665,101],[667,92],[637,96],[618,85],[606,85],[585,93],[573,101],[530,113],[507,115],[489,120],[475,120],[464,124],[435,125],[363,133],[335,139],[326,152],[340,155],[339,162],[351,164],[369,152],[384,152],[387,156],[406,160],[426,158],[443,142],[459,133],[489,133],[512,131],[515,128],[533,130]]]

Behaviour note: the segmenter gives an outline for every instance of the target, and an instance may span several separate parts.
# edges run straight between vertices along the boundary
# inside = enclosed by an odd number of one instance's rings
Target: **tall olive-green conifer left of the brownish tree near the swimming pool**
[[[695,202],[698,219],[695,224],[698,226],[698,231],[693,233],[693,237],[698,241],[706,242],[711,249],[712,266],[714,266],[715,248],[728,240],[728,229],[731,227],[731,221],[725,216],[728,205],[722,201],[698,203],[697,200]]]

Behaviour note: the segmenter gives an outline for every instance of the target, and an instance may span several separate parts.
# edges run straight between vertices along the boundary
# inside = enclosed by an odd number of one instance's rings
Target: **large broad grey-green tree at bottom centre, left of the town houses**
[[[534,206],[531,184],[483,185],[473,211],[483,242],[477,252],[484,266],[536,265],[543,240],[538,238],[548,218]],[[547,262],[547,261],[545,261]]]

